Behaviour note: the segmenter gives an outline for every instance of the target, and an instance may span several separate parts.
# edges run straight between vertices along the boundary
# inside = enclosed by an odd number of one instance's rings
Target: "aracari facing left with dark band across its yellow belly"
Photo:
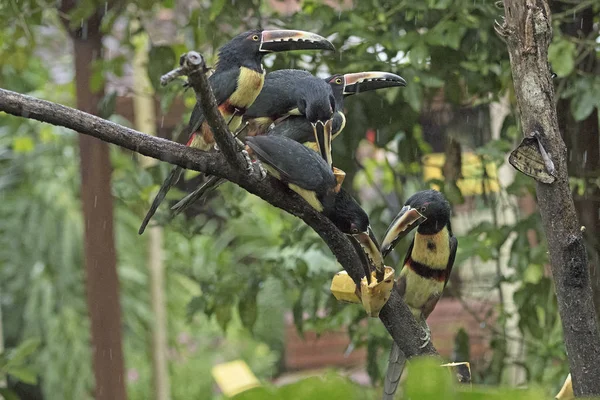
[[[396,280],[396,290],[423,326],[423,347],[431,339],[427,317],[442,297],[458,247],[458,241],[452,235],[450,212],[450,204],[440,192],[415,193],[392,221],[381,244],[385,257],[401,238],[418,227]],[[405,361],[404,354],[394,342],[384,382],[384,400],[394,398]]]

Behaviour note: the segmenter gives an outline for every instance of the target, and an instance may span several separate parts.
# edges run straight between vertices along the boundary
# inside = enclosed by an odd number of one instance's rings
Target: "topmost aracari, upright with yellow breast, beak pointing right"
[[[235,130],[241,117],[260,93],[265,79],[262,58],[265,54],[290,50],[334,50],[327,39],[314,33],[297,30],[251,30],[244,32],[219,49],[214,73],[208,78],[219,111],[229,128]],[[200,104],[196,103],[186,128],[188,146],[209,151],[214,138],[205,121]],[[165,198],[169,189],[179,180],[183,168],[175,167],[163,182],[150,210],[139,229],[142,234],[150,218]]]

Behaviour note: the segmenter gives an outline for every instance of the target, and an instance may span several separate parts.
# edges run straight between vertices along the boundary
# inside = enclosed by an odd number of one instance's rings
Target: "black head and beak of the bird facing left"
[[[411,230],[418,227],[423,235],[433,235],[450,227],[450,204],[436,190],[424,190],[410,196],[402,210],[388,226],[381,243],[381,252],[385,257],[396,244]]]

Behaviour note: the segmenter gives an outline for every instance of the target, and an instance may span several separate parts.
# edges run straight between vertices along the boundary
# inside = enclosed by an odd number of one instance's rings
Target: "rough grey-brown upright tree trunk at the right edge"
[[[546,0],[504,0],[504,9],[497,30],[508,46],[523,133],[540,134],[556,170],[554,183],[537,182],[536,189],[573,386],[578,396],[600,395],[600,335],[548,68],[550,9]]]

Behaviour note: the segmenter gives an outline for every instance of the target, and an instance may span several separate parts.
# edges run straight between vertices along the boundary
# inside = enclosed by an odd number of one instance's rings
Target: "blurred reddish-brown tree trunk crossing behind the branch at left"
[[[64,3],[63,3],[64,5]],[[71,32],[75,54],[77,107],[98,113],[103,91],[92,93],[91,66],[102,57],[97,14]],[[81,200],[85,223],[85,272],[91,321],[96,400],[125,400],[121,305],[113,234],[113,198],[108,144],[80,135]]]

